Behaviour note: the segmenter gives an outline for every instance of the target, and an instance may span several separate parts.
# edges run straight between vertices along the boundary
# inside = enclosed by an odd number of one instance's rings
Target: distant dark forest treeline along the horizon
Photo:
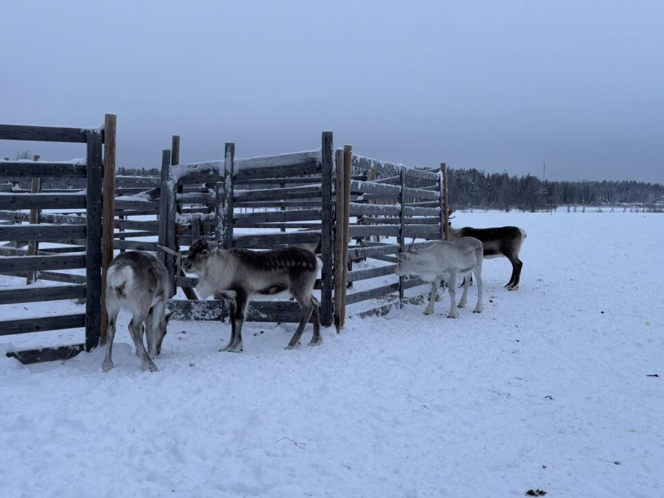
[[[449,170],[454,209],[542,211],[568,205],[656,205],[664,203],[664,184],[636,181],[548,181],[536,176]],[[159,176],[158,168],[119,167],[117,174]]]

